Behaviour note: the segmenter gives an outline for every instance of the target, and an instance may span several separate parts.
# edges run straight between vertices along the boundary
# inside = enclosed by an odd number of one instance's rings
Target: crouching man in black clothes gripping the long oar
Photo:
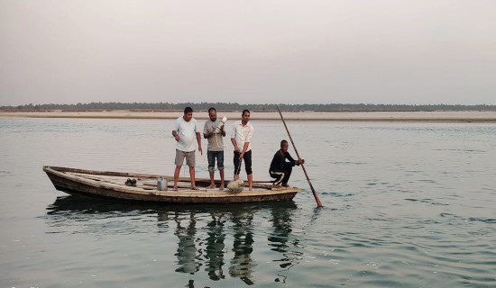
[[[288,181],[293,166],[305,164],[304,159],[293,159],[293,157],[289,155],[288,148],[289,145],[287,140],[280,141],[280,149],[272,158],[269,174],[271,174],[272,178],[276,178],[274,184],[272,185],[272,188],[274,189],[279,189],[280,185],[289,187]]]

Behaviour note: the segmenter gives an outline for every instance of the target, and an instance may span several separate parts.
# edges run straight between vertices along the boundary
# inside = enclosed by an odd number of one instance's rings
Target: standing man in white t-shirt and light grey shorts
[[[189,166],[189,176],[191,177],[191,189],[198,190],[195,184],[195,137],[197,138],[198,150],[203,155],[201,149],[200,130],[197,120],[193,118],[193,109],[186,107],[184,115],[174,122],[172,136],[176,139],[176,170],[174,171],[174,191],[178,191],[178,179],[181,166],[186,158],[186,164]]]

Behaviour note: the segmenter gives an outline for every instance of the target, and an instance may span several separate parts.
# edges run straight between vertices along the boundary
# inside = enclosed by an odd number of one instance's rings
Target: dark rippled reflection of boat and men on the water
[[[51,229],[56,229],[58,233],[74,233],[78,229],[79,232],[132,234],[143,231],[150,233],[150,229],[157,229],[158,233],[177,237],[175,260],[169,261],[166,264],[168,267],[161,269],[170,268],[189,275],[206,272],[205,275],[211,281],[230,277],[251,285],[255,283],[253,275],[260,264],[255,259],[261,254],[265,255],[270,250],[280,255],[271,259],[280,267],[274,272],[276,275],[271,277],[271,281],[282,283],[287,276],[285,271],[297,265],[302,258],[299,236],[291,234],[292,216],[296,208],[294,202],[136,205],[69,195],[58,198],[48,207],[47,219]],[[150,217],[153,215],[157,220],[151,227]],[[115,223],[105,227],[101,225],[103,219]],[[94,220],[97,223],[92,224]],[[85,223],[83,227],[81,223]],[[255,243],[255,238],[264,238],[263,235],[267,235],[267,243]],[[169,251],[169,247],[165,250]],[[164,250],[160,247],[152,249]],[[194,285],[194,280],[188,280],[187,287]]]

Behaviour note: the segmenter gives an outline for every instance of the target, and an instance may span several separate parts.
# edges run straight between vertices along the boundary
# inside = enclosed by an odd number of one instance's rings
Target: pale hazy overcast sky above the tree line
[[[0,0],[0,105],[496,104],[495,0]]]

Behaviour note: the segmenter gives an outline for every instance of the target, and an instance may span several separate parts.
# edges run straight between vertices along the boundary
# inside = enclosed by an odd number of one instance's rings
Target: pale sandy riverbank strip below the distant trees
[[[285,120],[308,121],[493,121],[496,111],[438,111],[438,112],[282,112]],[[218,111],[218,116],[227,119],[241,118],[241,112]],[[47,112],[4,112],[0,117],[31,118],[124,118],[124,119],[176,119],[182,112],[134,112],[113,111],[47,111]],[[206,111],[194,112],[196,119],[207,119]],[[279,120],[278,112],[252,112],[253,120]]]

